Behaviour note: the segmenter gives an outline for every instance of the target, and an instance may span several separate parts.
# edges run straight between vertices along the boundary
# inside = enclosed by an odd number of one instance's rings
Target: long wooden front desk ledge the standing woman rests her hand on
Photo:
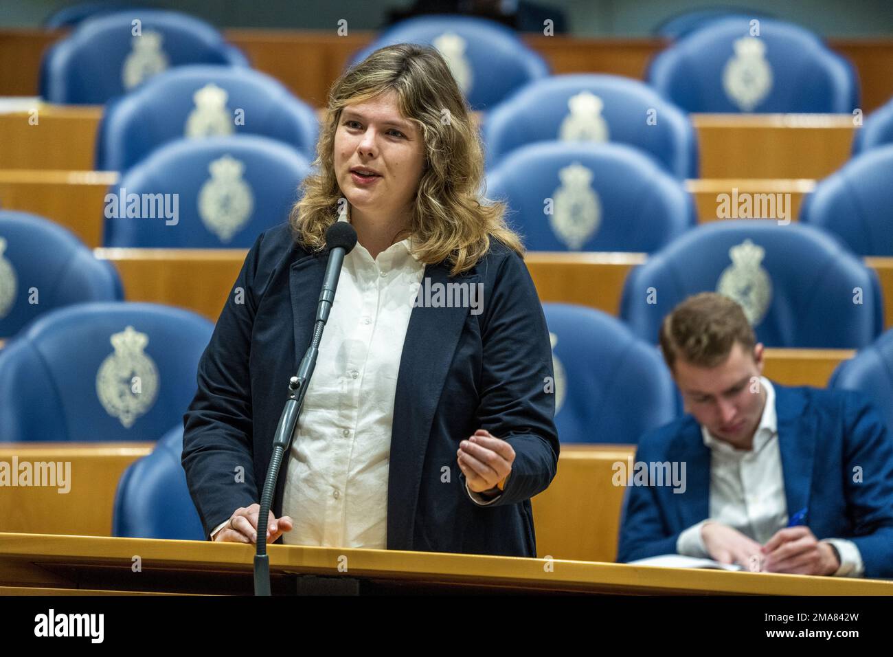
[[[490,590],[588,594],[883,595],[893,582],[722,570],[663,569],[571,560],[539,560],[439,552],[350,550],[271,545],[271,576],[312,574],[388,580],[407,585],[486,587]],[[176,591],[190,576],[218,580],[241,575],[247,584],[253,546],[237,543],[157,541],[39,534],[0,534],[0,585],[151,590],[144,572],[132,572],[134,555],[154,582]],[[338,570],[346,563],[346,572]],[[250,587],[243,589],[246,594]]]

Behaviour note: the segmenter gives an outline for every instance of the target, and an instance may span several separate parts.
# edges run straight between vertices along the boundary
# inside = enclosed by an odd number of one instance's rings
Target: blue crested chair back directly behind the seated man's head
[[[663,317],[705,291],[741,303],[767,347],[859,349],[883,327],[872,269],[826,232],[760,219],[699,226],[649,257],[627,277],[621,317],[655,344]]]

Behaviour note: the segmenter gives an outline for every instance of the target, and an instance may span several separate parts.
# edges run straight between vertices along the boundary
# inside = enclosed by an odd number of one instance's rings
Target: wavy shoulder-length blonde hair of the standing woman
[[[304,196],[289,215],[296,240],[320,251],[326,229],[338,220],[344,194],[335,176],[334,145],[341,110],[388,90],[396,91],[401,114],[420,127],[424,139],[425,164],[407,228],[421,262],[446,262],[451,275],[461,274],[488,252],[491,238],[523,257],[521,239],[505,223],[505,203],[479,193],[480,132],[447,63],[434,48],[412,44],[376,50],[332,85],[314,172],[302,182]]]

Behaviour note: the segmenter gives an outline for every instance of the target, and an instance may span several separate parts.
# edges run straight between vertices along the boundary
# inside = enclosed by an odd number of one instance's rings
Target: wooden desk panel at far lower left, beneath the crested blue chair
[[[6,532],[111,535],[118,480],[152,447],[149,442],[0,443],[0,461],[11,467],[13,457],[19,464],[56,461],[71,467],[68,493],[60,493],[59,486],[4,486],[0,525]]]

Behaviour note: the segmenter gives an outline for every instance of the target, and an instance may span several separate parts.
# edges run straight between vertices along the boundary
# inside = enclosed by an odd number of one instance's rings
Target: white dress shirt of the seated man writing
[[[766,402],[754,434],[753,449],[738,450],[728,442],[714,438],[705,426],[701,426],[704,444],[710,448],[710,518],[680,534],[676,541],[676,552],[680,554],[710,556],[701,535],[701,527],[708,521],[737,529],[761,544],[788,526],[775,389],[765,376],[760,377],[760,382],[766,391]],[[793,512],[797,511],[799,509]],[[862,555],[855,543],[841,538],[823,542],[833,544],[840,554],[840,568],[834,575],[862,576]]]

